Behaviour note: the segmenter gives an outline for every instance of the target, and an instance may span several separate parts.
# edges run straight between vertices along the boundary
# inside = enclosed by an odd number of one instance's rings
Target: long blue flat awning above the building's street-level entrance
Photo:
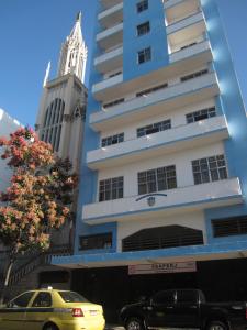
[[[209,261],[247,257],[247,242],[224,242],[206,245],[115,253],[83,253],[55,256],[52,263],[68,268],[112,267],[181,261]]]

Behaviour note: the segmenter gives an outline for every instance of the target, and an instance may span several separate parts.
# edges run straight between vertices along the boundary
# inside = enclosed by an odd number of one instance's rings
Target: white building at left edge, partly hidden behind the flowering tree
[[[9,135],[15,132],[21,127],[21,123],[9,116],[3,109],[0,109],[0,136],[9,138]],[[1,148],[0,148],[1,150]],[[5,191],[10,185],[10,178],[12,172],[10,170],[7,162],[0,160],[0,191]]]

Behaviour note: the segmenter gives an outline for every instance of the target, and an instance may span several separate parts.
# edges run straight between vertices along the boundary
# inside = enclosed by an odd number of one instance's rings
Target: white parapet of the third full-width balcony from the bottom
[[[114,77],[117,78],[119,76]],[[113,78],[111,78],[113,79]],[[93,91],[99,90],[98,85],[100,85],[101,89],[106,88],[106,84],[103,85],[104,81],[99,82],[93,86]],[[116,84],[116,82],[115,82]],[[112,85],[112,84],[111,84]],[[100,121],[110,120],[113,117],[130,114],[131,111],[146,111],[147,107],[153,105],[161,103],[168,101],[170,99],[178,100],[179,97],[183,95],[188,95],[191,92],[195,92],[197,90],[202,90],[203,88],[211,87],[213,85],[217,85],[217,78],[215,73],[209,73],[201,77],[187,80],[165,89],[155,91],[147,97],[138,97],[132,100],[125,101],[124,103],[114,106],[109,109],[109,111],[98,111],[90,116],[90,124],[98,123]]]

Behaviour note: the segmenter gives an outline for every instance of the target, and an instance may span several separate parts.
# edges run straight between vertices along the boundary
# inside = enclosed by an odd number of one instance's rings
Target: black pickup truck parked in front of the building
[[[247,329],[246,302],[206,302],[198,289],[170,289],[127,305],[120,314],[127,330],[148,328]]]

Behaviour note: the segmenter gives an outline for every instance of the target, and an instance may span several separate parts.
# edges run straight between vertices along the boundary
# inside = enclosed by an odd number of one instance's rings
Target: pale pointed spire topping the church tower
[[[81,12],[78,12],[75,25],[69,36],[66,37],[66,41],[61,45],[58,77],[71,73],[83,82],[87,53],[88,50],[81,33]]]

